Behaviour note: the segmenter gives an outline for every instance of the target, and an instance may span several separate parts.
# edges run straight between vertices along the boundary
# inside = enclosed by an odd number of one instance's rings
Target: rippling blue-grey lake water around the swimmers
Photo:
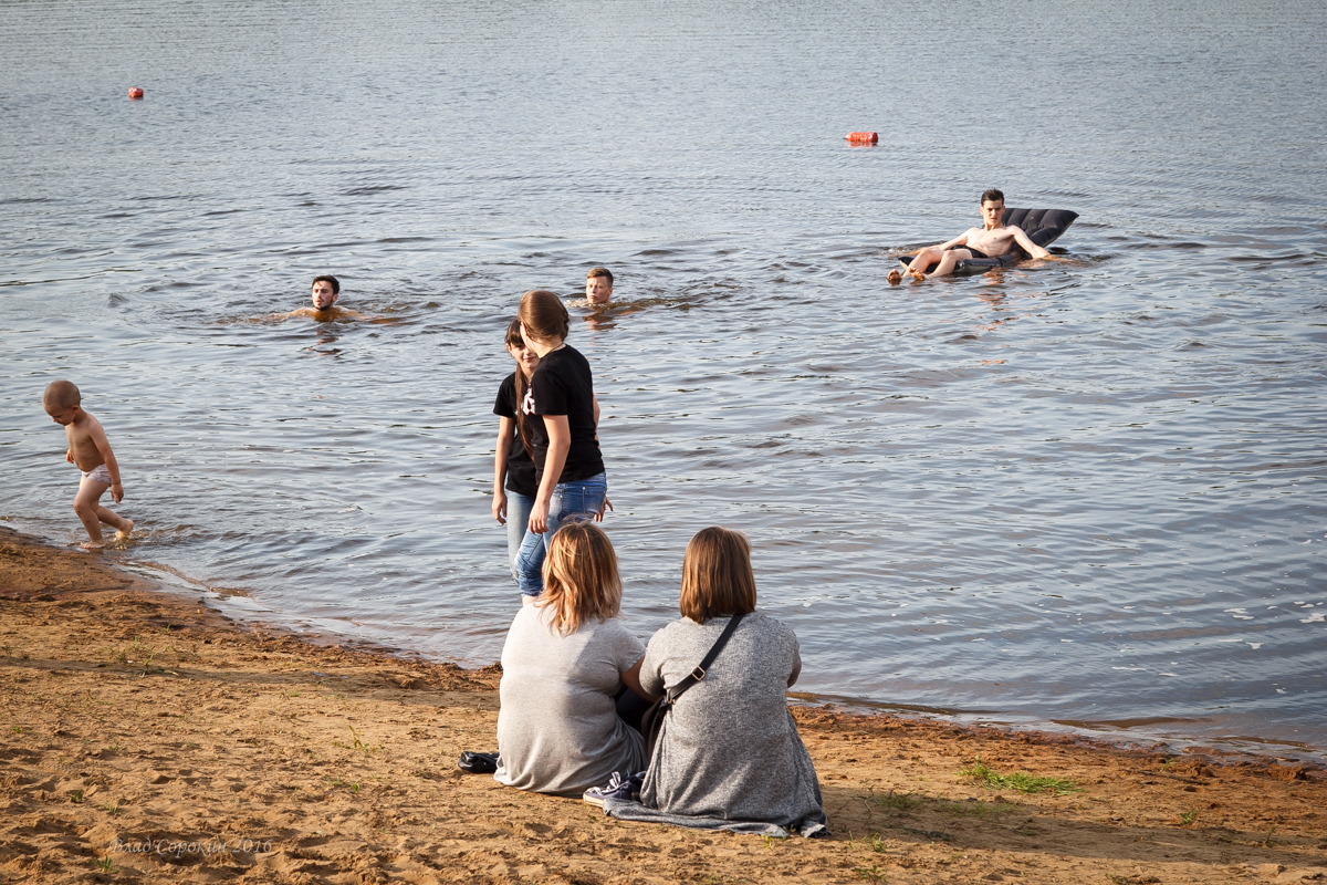
[[[503,330],[602,264],[642,637],[723,524],[799,690],[1327,756],[1323,4],[8,0],[0,81],[4,524],[82,540],[68,377],[109,556],[491,662]],[[993,186],[1067,260],[884,283]],[[391,322],[263,321],[324,272]]]

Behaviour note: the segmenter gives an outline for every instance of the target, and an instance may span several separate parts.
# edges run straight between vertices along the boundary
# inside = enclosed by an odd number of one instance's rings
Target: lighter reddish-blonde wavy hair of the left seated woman
[[[544,560],[544,592],[535,604],[553,610],[549,626],[563,636],[575,633],[591,618],[617,617],[622,579],[604,529],[584,520],[557,529]]]

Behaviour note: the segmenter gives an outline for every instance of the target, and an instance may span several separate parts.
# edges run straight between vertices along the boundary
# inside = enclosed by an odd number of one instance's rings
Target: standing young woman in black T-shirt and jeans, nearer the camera
[[[535,289],[520,300],[520,337],[539,357],[520,403],[539,484],[529,524],[516,553],[523,602],[544,589],[548,541],[565,521],[594,519],[604,508],[608,479],[598,451],[598,405],[589,362],[567,345],[571,320],[553,292]]]

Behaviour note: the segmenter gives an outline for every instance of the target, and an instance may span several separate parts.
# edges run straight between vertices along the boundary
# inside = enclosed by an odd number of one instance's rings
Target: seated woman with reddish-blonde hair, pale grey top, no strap
[[[645,742],[614,698],[645,646],[618,620],[622,581],[601,528],[568,523],[544,563],[544,592],[507,632],[498,693],[498,772],[508,787],[580,796],[614,771],[645,767]]]

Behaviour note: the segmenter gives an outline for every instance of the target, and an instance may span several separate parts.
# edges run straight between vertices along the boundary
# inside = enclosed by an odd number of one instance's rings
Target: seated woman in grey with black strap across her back
[[[608,813],[697,827],[759,821],[803,835],[827,832],[816,771],[786,697],[802,671],[798,637],[755,612],[744,535],[713,527],[691,539],[682,561],[681,610],[682,618],[656,633],[645,651],[640,683],[649,695],[678,685],[731,617],[743,617],[705,677],[664,719],[640,787],[641,805],[634,805],[636,811],[644,805],[645,816],[613,801],[605,803]],[[587,801],[596,793],[601,800],[613,796],[596,789]],[[667,820],[650,817],[650,811],[717,820]]]

